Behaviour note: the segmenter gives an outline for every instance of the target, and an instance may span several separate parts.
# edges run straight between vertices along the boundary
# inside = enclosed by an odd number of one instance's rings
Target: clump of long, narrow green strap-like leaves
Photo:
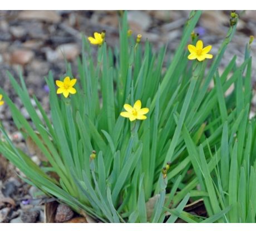
[[[148,41],[142,48],[127,34],[126,12],[120,17],[119,48],[102,42],[95,60],[83,38],[76,93],[59,96],[52,73],[46,78],[51,118],[33,96],[40,114],[36,112],[22,75],[19,84],[9,74],[32,124],[0,92],[17,128],[47,163],[36,165],[2,126],[1,153],[29,184],[102,222],[175,222],[178,217],[186,222],[255,222],[249,45],[243,64],[238,66],[234,57],[219,73],[237,24],[233,14],[214,58],[191,62],[186,45],[200,14],[191,12],[174,56],[165,54],[166,47],[154,52]],[[70,65],[59,79],[65,77],[73,77]],[[136,100],[149,108],[147,119],[123,118],[124,104]],[[184,211],[189,200],[199,199],[207,218]]]

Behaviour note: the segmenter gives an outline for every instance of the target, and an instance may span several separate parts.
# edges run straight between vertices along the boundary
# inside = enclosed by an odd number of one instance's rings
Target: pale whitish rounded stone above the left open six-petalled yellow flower
[[[80,53],[79,47],[75,43],[62,44],[57,47],[58,57],[61,59],[74,60]]]

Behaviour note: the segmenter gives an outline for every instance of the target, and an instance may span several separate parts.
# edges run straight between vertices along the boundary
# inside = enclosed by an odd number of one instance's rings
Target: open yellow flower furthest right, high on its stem
[[[201,40],[198,40],[195,46],[192,44],[189,44],[188,49],[190,54],[188,55],[188,59],[189,60],[198,59],[199,62],[201,62],[205,58],[209,58],[209,59],[213,58],[213,55],[209,54],[211,50],[211,45],[208,45],[205,48],[203,47],[204,47],[204,44],[203,44],[203,41]]]

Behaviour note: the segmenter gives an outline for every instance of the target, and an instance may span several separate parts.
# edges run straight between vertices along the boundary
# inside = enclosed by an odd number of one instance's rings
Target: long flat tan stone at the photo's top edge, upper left
[[[21,11],[18,19],[37,19],[38,21],[45,21],[48,23],[58,23],[61,17],[56,11]]]

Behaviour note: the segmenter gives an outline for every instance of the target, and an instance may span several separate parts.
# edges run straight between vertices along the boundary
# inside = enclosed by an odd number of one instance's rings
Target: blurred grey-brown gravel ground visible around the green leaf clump
[[[205,11],[196,27],[196,32],[204,43],[213,45],[213,54],[216,54],[227,32],[229,13]],[[240,14],[238,31],[222,60],[220,71],[233,55],[237,55],[238,63],[241,63],[249,36],[256,35],[256,12],[238,13]],[[142,41],[149,39],[155,49],[168,44],[168,53],[172,53],[180,42],[181,27],[188,15],[188,11],[130,11],[128,19],[134,34],[142,34]],[[63,54],[71,62],[72,70],[76,75],[76,57],[81,51],[81,32],[90,36],[93,32],[102,30],[106,30],[107,44],[116,46],[118,43],[116,11],[0,11],[1,87],[14,99],[27,119],[29,115],[22,107],[21,101],[14,95],[6,74],[7,70],[16,78],[19,72],[23,73],[29,93],[36,94],[47,111],[48,90],[44,77],[49,70],[52,70],[55,78],[65,73]],[[252,44],[252,57],[255,60],[255,43]],[[255,62],[253,62],[252,74],[253,86],[256,87]],[[256,95],[253,98],[253,110],[255,104]],[[0,120],[13,141],[27,150],[22,135],[13,125],[6,105],[0,107]],[[31,156],[36,163],[40,163],[36,155]],[[0,222],[45,221],[43,196],[38,197],[39,190],[25,184],[17,174],[22,175],[0,155]],[[70,216],[70,210],[67,212]],[[67,220],[63,217],[60,221]]]

